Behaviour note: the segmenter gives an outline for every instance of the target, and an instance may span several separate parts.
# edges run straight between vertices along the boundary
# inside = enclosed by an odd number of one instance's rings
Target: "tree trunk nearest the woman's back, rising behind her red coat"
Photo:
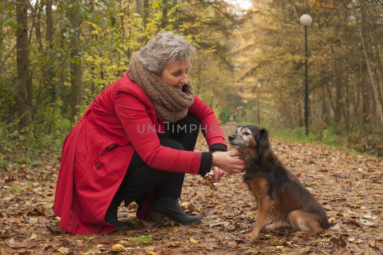
[[[81,51],[79,50],[79,36],[80,36],[80,13],[74,10],[77,5],[75,0],[71,0],[72,8],[69,9],[68,19],[75,33],[72,34],[70,40],[70,84],[71,84],[71,97],[70,97],[70,121],[75,122],[75,116],[79,113],[77,106],[81,105],[82,100],[82,77],[81,77]],[[75,61],[74,61],[75,60]]]

